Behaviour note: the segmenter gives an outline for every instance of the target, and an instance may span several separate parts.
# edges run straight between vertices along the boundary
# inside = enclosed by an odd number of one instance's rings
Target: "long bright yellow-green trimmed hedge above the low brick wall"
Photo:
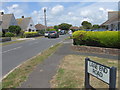
[[[120,48],[119,33],[119,31],[76,31],[73,33],[74,45]]]

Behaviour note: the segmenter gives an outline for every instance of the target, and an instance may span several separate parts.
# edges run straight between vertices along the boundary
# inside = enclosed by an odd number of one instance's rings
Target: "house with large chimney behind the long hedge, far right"
[[[108,12],[108,20],[102,25],[108,26],[110,31],[120,31],[120,11]]]

